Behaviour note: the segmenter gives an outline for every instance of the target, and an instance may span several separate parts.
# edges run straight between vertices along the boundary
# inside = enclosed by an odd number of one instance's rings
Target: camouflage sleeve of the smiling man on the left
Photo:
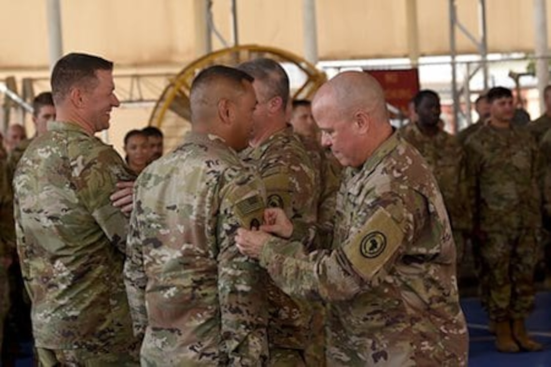
[[[128,218],[120,209],[112,206],[109,197],[116,190],[118,181],[133,181],[136,176],[127,168],[114,149],[105,145],[97,154],[90,154],[86,162],[80,155],[73,163],[75,186],[82,202],[119,251],[126,251]]]

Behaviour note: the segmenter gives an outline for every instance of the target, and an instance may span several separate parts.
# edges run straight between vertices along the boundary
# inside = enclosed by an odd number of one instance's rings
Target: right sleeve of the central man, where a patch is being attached
[[[251,176],[252,177],[252,176]],[[225,188],[218,218],[218,295],[222,350],[227,365],[263,365],[268,358],[267,304],[261,269],[235,246],[240,226],[260,225],[265,208],[262,183],[236,180]]]

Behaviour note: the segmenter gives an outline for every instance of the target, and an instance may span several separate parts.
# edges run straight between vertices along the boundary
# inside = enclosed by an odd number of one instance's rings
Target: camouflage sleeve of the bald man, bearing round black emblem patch
[[[352,298],[365,285],[376,284],[394,266],[411,218],[400,199],[385,199],[363,226],[333,251],[309,254],[299,242],[271,238],[262,249],[261,266],[283,292],[326,301]],[[391,207],[391,211],[387,211]],[[395,218],[402,218],[399,222]],[[418,223],[422,228],[422,223]]]

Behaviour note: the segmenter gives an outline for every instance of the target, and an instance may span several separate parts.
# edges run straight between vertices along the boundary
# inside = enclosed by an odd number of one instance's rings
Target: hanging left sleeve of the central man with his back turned
[[[136,182],[134,191],[135,209],[130,217],[128,237],[126,241],[126,259],[124,268],[125,288],[128,296],[128,305],[132,317],[132,326],[134,335],[142,336],[147,328],[148,317],[145,308],[145,287],[147,285],[147,275],[144,271],[142,245],[144,236],[142,225],[143,210],[141,202],[137,200],[139,192],[139,180]]]

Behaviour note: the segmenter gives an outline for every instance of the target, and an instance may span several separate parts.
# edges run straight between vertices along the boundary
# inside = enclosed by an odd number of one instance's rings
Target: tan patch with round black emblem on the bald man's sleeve
[[[354,270],[364,279],[372,279],[401,245],[404,233],[384,208],[365,222],[343,251]]]

